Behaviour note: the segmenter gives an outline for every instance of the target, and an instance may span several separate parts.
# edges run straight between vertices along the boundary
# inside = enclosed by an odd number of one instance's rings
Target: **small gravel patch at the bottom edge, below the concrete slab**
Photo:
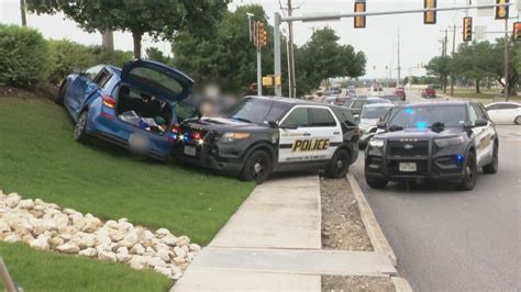
[[[390,277],[323,276],[322,291],[396,291]]]

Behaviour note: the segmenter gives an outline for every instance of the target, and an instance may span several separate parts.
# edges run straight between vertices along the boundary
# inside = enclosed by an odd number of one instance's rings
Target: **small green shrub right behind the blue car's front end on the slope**
[[[59,85],[73,70],[82,70],[96,64],[89,47],[68,40],[48,41],[51,52],[49,81]]]

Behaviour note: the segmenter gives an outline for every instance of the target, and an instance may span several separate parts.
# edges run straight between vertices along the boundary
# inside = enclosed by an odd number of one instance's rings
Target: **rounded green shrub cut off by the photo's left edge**
[[[30,87],[48,75],[48,49],[36,30],[0,24],[0,83]]]

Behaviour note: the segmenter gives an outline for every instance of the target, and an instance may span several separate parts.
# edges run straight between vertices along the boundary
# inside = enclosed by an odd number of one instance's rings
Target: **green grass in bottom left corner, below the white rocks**
[[[0,243],[9,273],[24,291],[167,291],[171,280],[130,266]],[[0,281],[0,290],[2,283]]]

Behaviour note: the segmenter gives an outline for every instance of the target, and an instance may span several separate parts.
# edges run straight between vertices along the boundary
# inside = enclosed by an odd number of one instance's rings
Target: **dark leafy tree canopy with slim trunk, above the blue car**
[[[173,40],[181,30],[211,30],[226,9],[229,0],[27,0],[30,11],[64,12],[87,32],[131,32],[134,57],[141,58],[144,34]]]

